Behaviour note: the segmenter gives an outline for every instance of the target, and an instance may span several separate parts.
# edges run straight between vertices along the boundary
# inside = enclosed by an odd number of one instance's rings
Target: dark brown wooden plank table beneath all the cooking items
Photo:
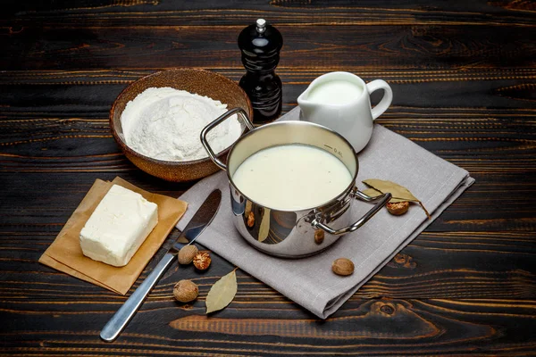
[[[528,355],[536,351],[536,5],[530,1],[38,1],[0,15],[0,354]],[[238,271],[205,317],[204,276],[171,270],[113,344],[125,297],[38,263],[95,179],[178,196],[121,154],[108,111],[156,70],[244,73],[239,31],[284,37],[283,112],[328,71],[385,79],[378,120],[477,180],[328,320]],[[158,253],[161,256],[163,251]],[[155,265],[152,261],[135,286]],[[196,278],[197,302],[172,286]]]

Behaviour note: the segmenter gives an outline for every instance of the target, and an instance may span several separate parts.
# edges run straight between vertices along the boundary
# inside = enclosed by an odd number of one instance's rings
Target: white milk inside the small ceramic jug
[[[348,104],[363,93],[363,88],[348,80],[330,80],[315,86],[307,100],[318,104]]]

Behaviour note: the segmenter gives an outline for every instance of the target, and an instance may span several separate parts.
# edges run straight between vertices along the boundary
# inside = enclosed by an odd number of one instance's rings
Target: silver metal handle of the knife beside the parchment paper
[[[112,319],[106,323],[102,329],[100,336],[106,342],[113,342],[119,336],[123,328],[127,326],[130,319],[138,311],[139,306],[145,300],[149,292],[155,286],[158,279],[162,276],[163,272],[167,270],[176,255],[172,253],[166,253],[163,258],[158,262],[155,269],[147,276],[147,278],[141,283],[138,288],[130,295],[129,299],[122,304],[121,308],[113,315]]]

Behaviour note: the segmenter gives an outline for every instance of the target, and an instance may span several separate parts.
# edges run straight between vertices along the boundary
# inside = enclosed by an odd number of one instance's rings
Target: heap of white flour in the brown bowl
[[[208,156],[199,140],[205,126],[227,112],[227,104],[208,96],[171,87],[151,87],[130,101],[121,114],[125,141],[146,156],[173,162]],[[241,134],[236,115],[208,133],[214,153],[232,145]]]

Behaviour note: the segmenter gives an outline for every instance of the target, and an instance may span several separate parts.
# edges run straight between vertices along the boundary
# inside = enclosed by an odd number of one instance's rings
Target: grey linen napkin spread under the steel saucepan
[[[295,108],[280,120],[298,118],[299,108]],[[248,245],[233,226],[229,184],[226,173],[221,171],[199,181],[180,196],[181,200],[188,202],[188,210],[177,228],[183,229],[205,197],[214,188],[220,188],[220,210],[197,239],[199,244],[264,281],[316,316],[326,319],[474,182],[466,170],[380,125],[374,126],[373,137],[358,154],[358,159],[359,188],[366,188],[361,182],[364,179],[397,182],[423,202],[431,213],[431,220],[414,204],[402,216],[381,210],[362,228],[340,237],[322,253],[302,259],[275,258]],[[357,220],[370,208],[370,203],[356,200],[352,206],[353,218]],[[355,263],[354,274],[343,278],[331,271],[331,262],[340,257],[347,257]]]

